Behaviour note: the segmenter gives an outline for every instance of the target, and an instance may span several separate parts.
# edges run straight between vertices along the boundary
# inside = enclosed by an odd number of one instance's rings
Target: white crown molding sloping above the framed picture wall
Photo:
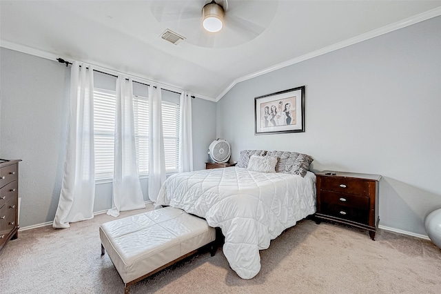
[[[405,28],[407,26],[411,26],[415,23],[419,23],[421,21],[425,21],[427,19],[431,19],[433,17],[438,17],[441,15],[441,6],[438,8],[434,8],[432,10],[428,10],[427,12],[422,12],[420,14],[416,14],[413,17],[409,17],[407,19],[403,19],[401,21],[397,21],[396,23],[391,23],[390,25],[384,26],[382,28],[378,28],[376,30],[371,30],[370,32],[366,32],[365,34],[358,35],[357,37],[353,37],[351,39],[347,39],[345,41],[341,41],[338,43],[335,43],[331,46],[327,46],[325,48],[316,50],[314,52],[309,52],[305,55],[302,55],[300,57],[296,57],[294,59],[289,59],[287,61],[284,61],[282,63],[278,63],[274,66],[270,66],[269,68],[265,68],[264,70],[259,70],[258,72],[254,72],[250,75],[246,75],[244,77],[239,77],[238,79],[235,79],[232,84],[229,84],[225,90],[220,92],[220,95],[216,97],[216,102],[222,99],[222,97],[227,94],[229,90],[231,90],[236,84],[240,83],[241,81],[246,81],[247,79],[253,79],[254,77],[258,77],[260,75],[265,75],[269,72],[273,72],[274,70],[279,70],[280,68],[285,68],[287,66],[291,66],[295,63],[305,61],[307,59],[311,59],[314,57],[318,57],[320,55],[324,55],[328,52],[332,52],[334,50],[338,50],[341,48],[345,48],[347,46],[351,46],[356,43],[360,43],[362,41],[366,41],[368,39],[372,39],[384,34],[387,34],[388,32],[393,32],[394,30],[399,30],[400,28]]]

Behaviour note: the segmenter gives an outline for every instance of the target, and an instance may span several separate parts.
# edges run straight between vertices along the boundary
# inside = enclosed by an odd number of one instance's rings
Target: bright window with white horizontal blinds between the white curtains
[[[179,105],[163,101],[165,171],[178,171]],[[149,173],[149,99],[133,97],[136,161],[139,175]],[[95,179],[112,179],[116,92],[94,88]]]

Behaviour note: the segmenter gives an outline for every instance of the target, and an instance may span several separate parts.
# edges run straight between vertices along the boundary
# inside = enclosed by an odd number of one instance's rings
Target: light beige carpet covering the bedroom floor
[[[134,210],[120,217],[151,210]],[[1,293],[123,293],[99,225],[108,215],[19,233],[0,256]],[[134,284],[130,293],[440,293],[441,250],[431,242],[302,220],[260,251],[252,280],[232,271],[221,249],[198,253]]]

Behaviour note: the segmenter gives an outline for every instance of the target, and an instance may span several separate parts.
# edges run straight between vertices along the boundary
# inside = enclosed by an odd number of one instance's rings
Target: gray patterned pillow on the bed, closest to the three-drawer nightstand
[[[301,175],[302,177],[305,177],[309,165],[314,161],[309,155],[296,152],[269,151],[267,156],[279,157],[276,173],[289,173],[291,175]]]

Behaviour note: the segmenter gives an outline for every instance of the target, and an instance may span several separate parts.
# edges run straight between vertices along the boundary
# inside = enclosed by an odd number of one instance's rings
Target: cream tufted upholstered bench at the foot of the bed
[[[101,255],[105,250],[125,283],[143,280],[211,243],[216,252],[216,230],[205,219],[172,207],[102,224]]]

